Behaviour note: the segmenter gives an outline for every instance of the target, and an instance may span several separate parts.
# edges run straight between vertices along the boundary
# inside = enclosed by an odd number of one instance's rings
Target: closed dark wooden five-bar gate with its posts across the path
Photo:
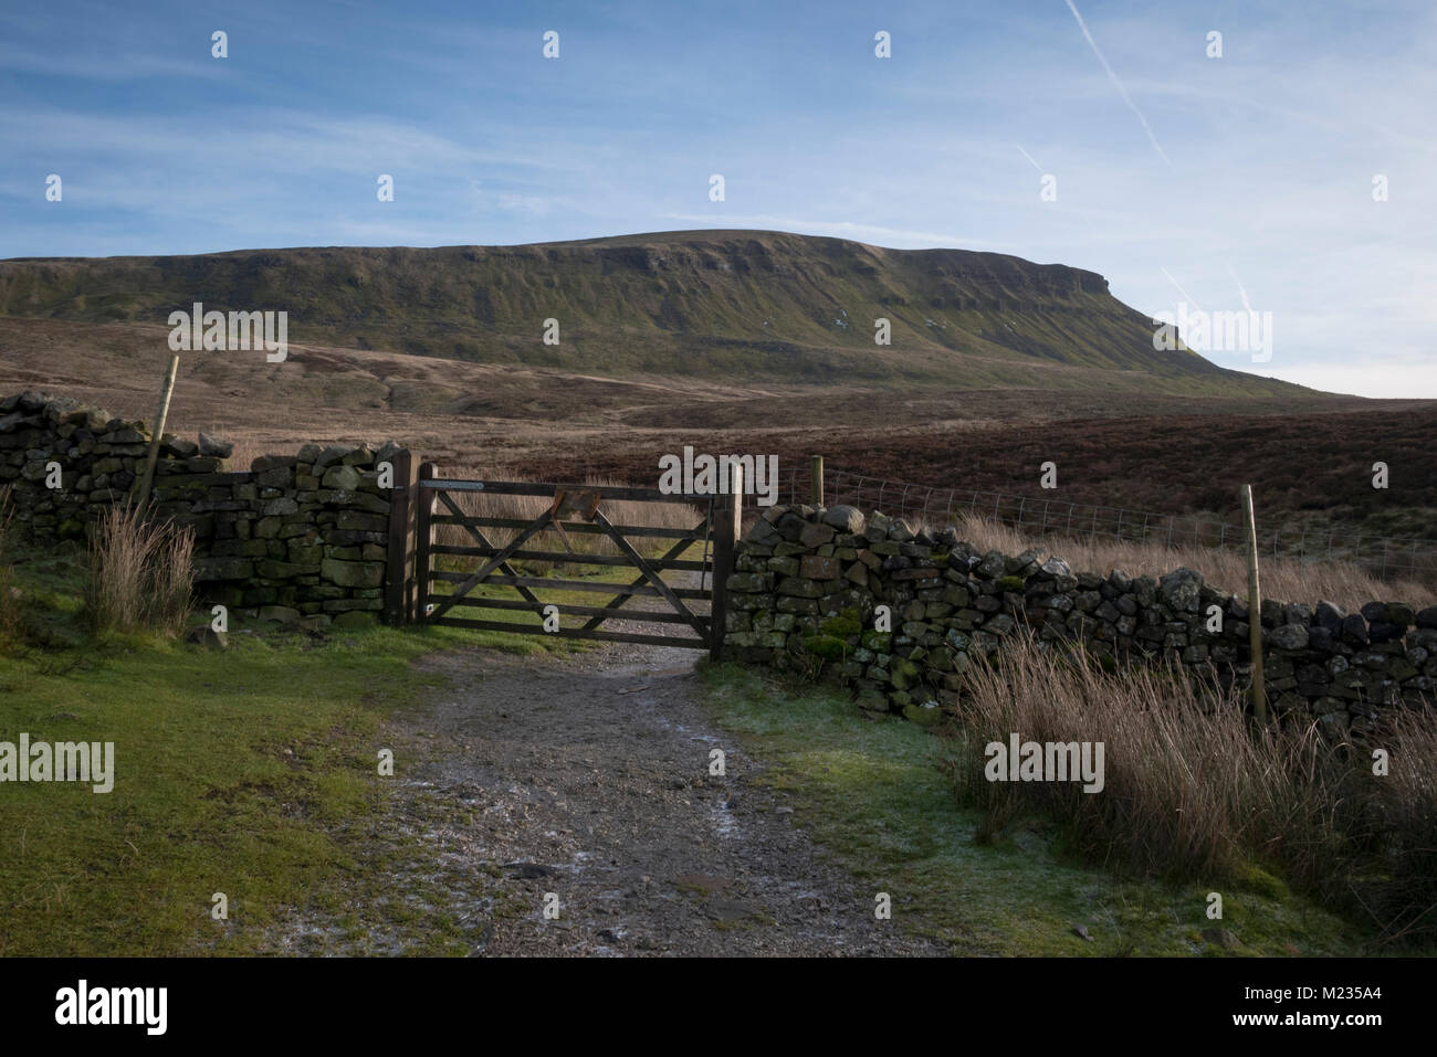
[[[724,586],[733,572],[733,546],[741,516],[740,483],[734,483],[734,494],[694,495],[614,485],[450,480],[438,477],[434,462],[411,471],[407,452],[395,470],[398,487],[391,506],[391,590],[387,599],[392,622],[687,646],[707,649],[710,656],[720,658]],[[507,516],[474,514],[463,504],[463,497],[473,494],[537,497],[547,503],[532,517],[516,517],[513,510]],[[697,508],[701,520],[691,528],[615,524],[606,510],[612,511],[618,501],[683,504]],[[463,541],[440,541],[435,531],[440,526],[457,527],[457,533],[444,536]],[[507,541],[497,541],[499,531],[509,537]],[[570,533],[602,537],[616,553],[575,550]],[[563,549],[537,549],[542,536],[556,537]],[[441,557],[450,560],[440,562]],[[625,569],[634,574],[621,580],[523,574],[514,563],[525,562]],[[440,564],[448,567],[437,567]],[[435,590],[438,585],[450,585],[450,589]],[[504,590],[496,592],[496,587]],[[579,605],[569,597],[545,597],[552,592],[611,597],[604,605]],[[637,600],[644,606],[629,605]],[[493,619],[510,613],[532,613],[537,622]],[[565,623],[562,618],[586,619],[581,625],[573,619]],[[612,620],[665,625],[687,633],[605,628]]]

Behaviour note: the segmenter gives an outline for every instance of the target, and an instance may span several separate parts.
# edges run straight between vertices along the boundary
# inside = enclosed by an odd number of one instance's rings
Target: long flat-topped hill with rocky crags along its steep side
[[[194,302],[285,312],[306,345],[591,375],[1091,389],[1137,372],[1150,392],[1300,392],[1155,350],[1102,276],[1000,253],[717,230],[0,261],[0,315],[165,325]]]

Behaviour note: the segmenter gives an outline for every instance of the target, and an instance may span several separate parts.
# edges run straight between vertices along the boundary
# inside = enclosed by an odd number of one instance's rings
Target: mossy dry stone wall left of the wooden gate
[[[34,541],[83,540],[98,511],[138,488],[149,432],[69,398],[0,401],[0,487]],[[201,599],[260,619],[320,626],[374,622],[384,607],[389,500],[378,462],[399,448],[306,444],[230,471],[230,445],[161,439],[152,508],[195,534]],[[52,467],[59,487],[49,487]]]

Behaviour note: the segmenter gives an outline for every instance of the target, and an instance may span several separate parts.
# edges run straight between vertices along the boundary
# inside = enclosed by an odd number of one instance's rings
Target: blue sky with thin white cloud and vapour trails
[[[1437,396],[1434,111],[1430,0],[7,4],[0,257],[779,228],[1246,297],[1272,359],[1214,362]]]

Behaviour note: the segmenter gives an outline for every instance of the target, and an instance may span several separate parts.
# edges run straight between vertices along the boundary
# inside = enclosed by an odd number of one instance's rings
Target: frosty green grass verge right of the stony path
[[[1062,850],[1058,829],[1017,819],[974,843],[984,816],[963,807],[938,740],[869,718],[845,695],[785,695],[736,665],[706,669],[716,722],[767,764],[795,823],[875,893],[894,923],[960,955],[1355,955],[1368,936],[1260,870],[1224,883],[1210,921],[1203,880],[1121,879]],[[1075,926],[1092,936],[1082,939]],[[1223,936],[1216,929],[1224,929]],[[1204,938],[1204,931],[1209,936]],[[1236,938],[1236,946],[1224,946]]]

